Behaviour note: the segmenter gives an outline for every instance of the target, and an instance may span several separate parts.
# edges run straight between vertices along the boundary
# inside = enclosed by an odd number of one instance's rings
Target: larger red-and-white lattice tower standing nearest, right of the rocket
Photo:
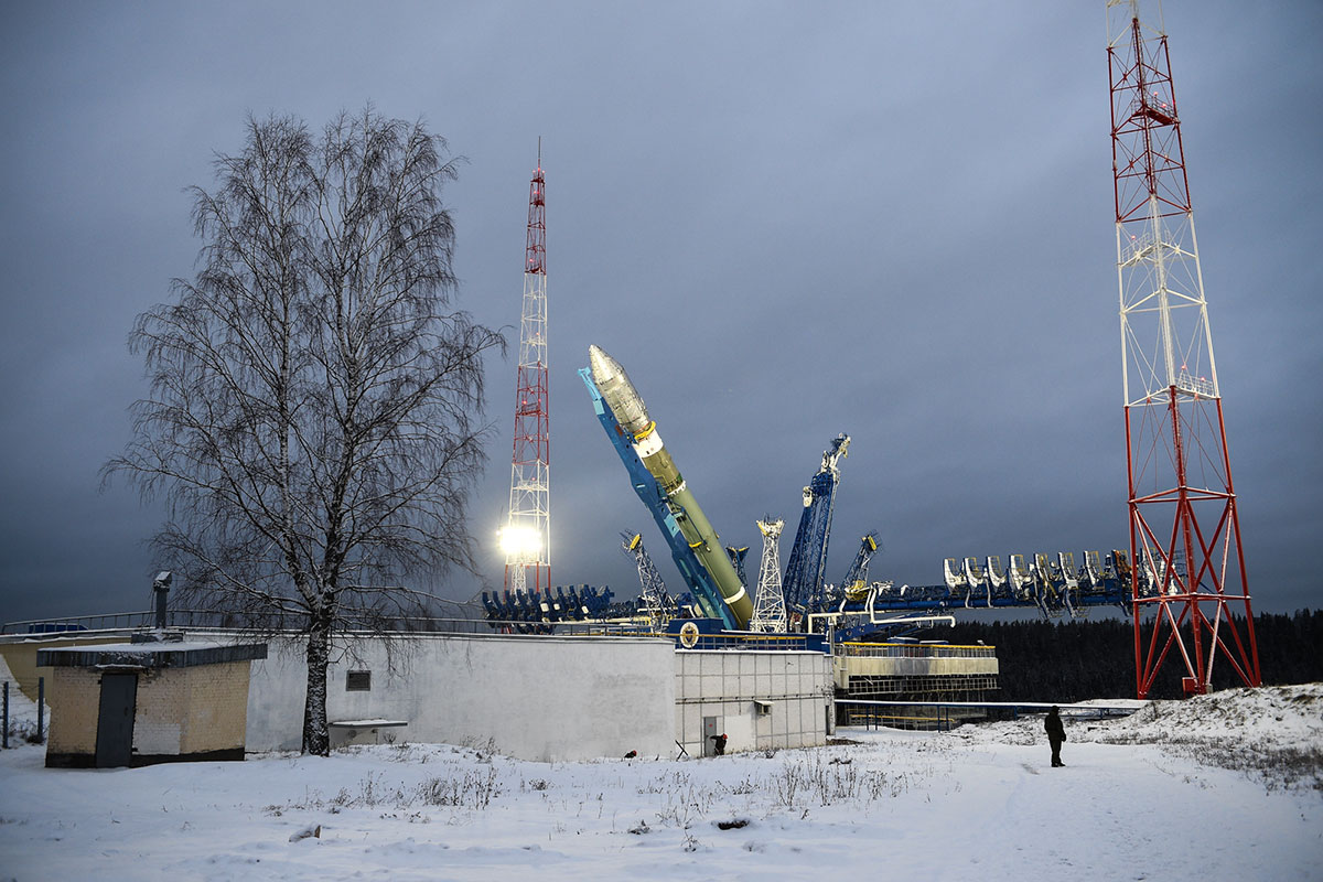
[[[1249,582],[1160,12],[1154,26],[1140,20],[1138,0],[1109,0],[1107,56],[1138,692],[1148,696],[1172,656],[1185,666],[1187,693],[1208,692],[1215,660],[1257,686]],[[1244,615],[1241,624],[1233,612]]]

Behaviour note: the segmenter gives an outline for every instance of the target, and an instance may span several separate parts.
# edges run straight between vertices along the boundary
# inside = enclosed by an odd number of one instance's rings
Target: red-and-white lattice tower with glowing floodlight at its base
[[[505,588],[509,591],[545,591],[552,578],[545,212],[542,139],[537,139],[537,171],[528,185],[524,312],[519,323],[519,373],[515,381],[515,463],[509,476],[509,518],[500,536],[505,553]]]

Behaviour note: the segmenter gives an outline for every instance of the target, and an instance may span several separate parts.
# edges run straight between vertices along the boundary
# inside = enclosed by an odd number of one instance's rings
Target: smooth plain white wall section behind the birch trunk
[[[397,741],[491,746],[532,760],[675,752],[675,644],[659,639],[406,635],[332,659],[327,714],[401,719]],[[274,639],[253,662],[247,750],[299,750],[304,647]],[[369,692],[347,692],[370,670]]]

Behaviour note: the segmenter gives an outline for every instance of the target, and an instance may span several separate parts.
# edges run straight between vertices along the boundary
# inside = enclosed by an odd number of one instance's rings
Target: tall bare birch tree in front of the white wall
[[[151,395],[105,473],[168,500],[155,545],[194,599],[303,629],[303,751],[325,755],[332,635],[474,567],[482,356],[504,341],[451,307],[455,160],[421,123],[250,118],[216,172],[196,278],[130,335]]]

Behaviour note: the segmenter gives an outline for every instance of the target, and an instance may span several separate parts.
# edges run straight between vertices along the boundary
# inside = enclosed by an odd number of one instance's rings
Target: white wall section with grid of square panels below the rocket
[[[827,743],[831,656],[681,649],[675,672],[675,737],[691,756],[712,752],[704,717],[717,718],[728,752]]]

